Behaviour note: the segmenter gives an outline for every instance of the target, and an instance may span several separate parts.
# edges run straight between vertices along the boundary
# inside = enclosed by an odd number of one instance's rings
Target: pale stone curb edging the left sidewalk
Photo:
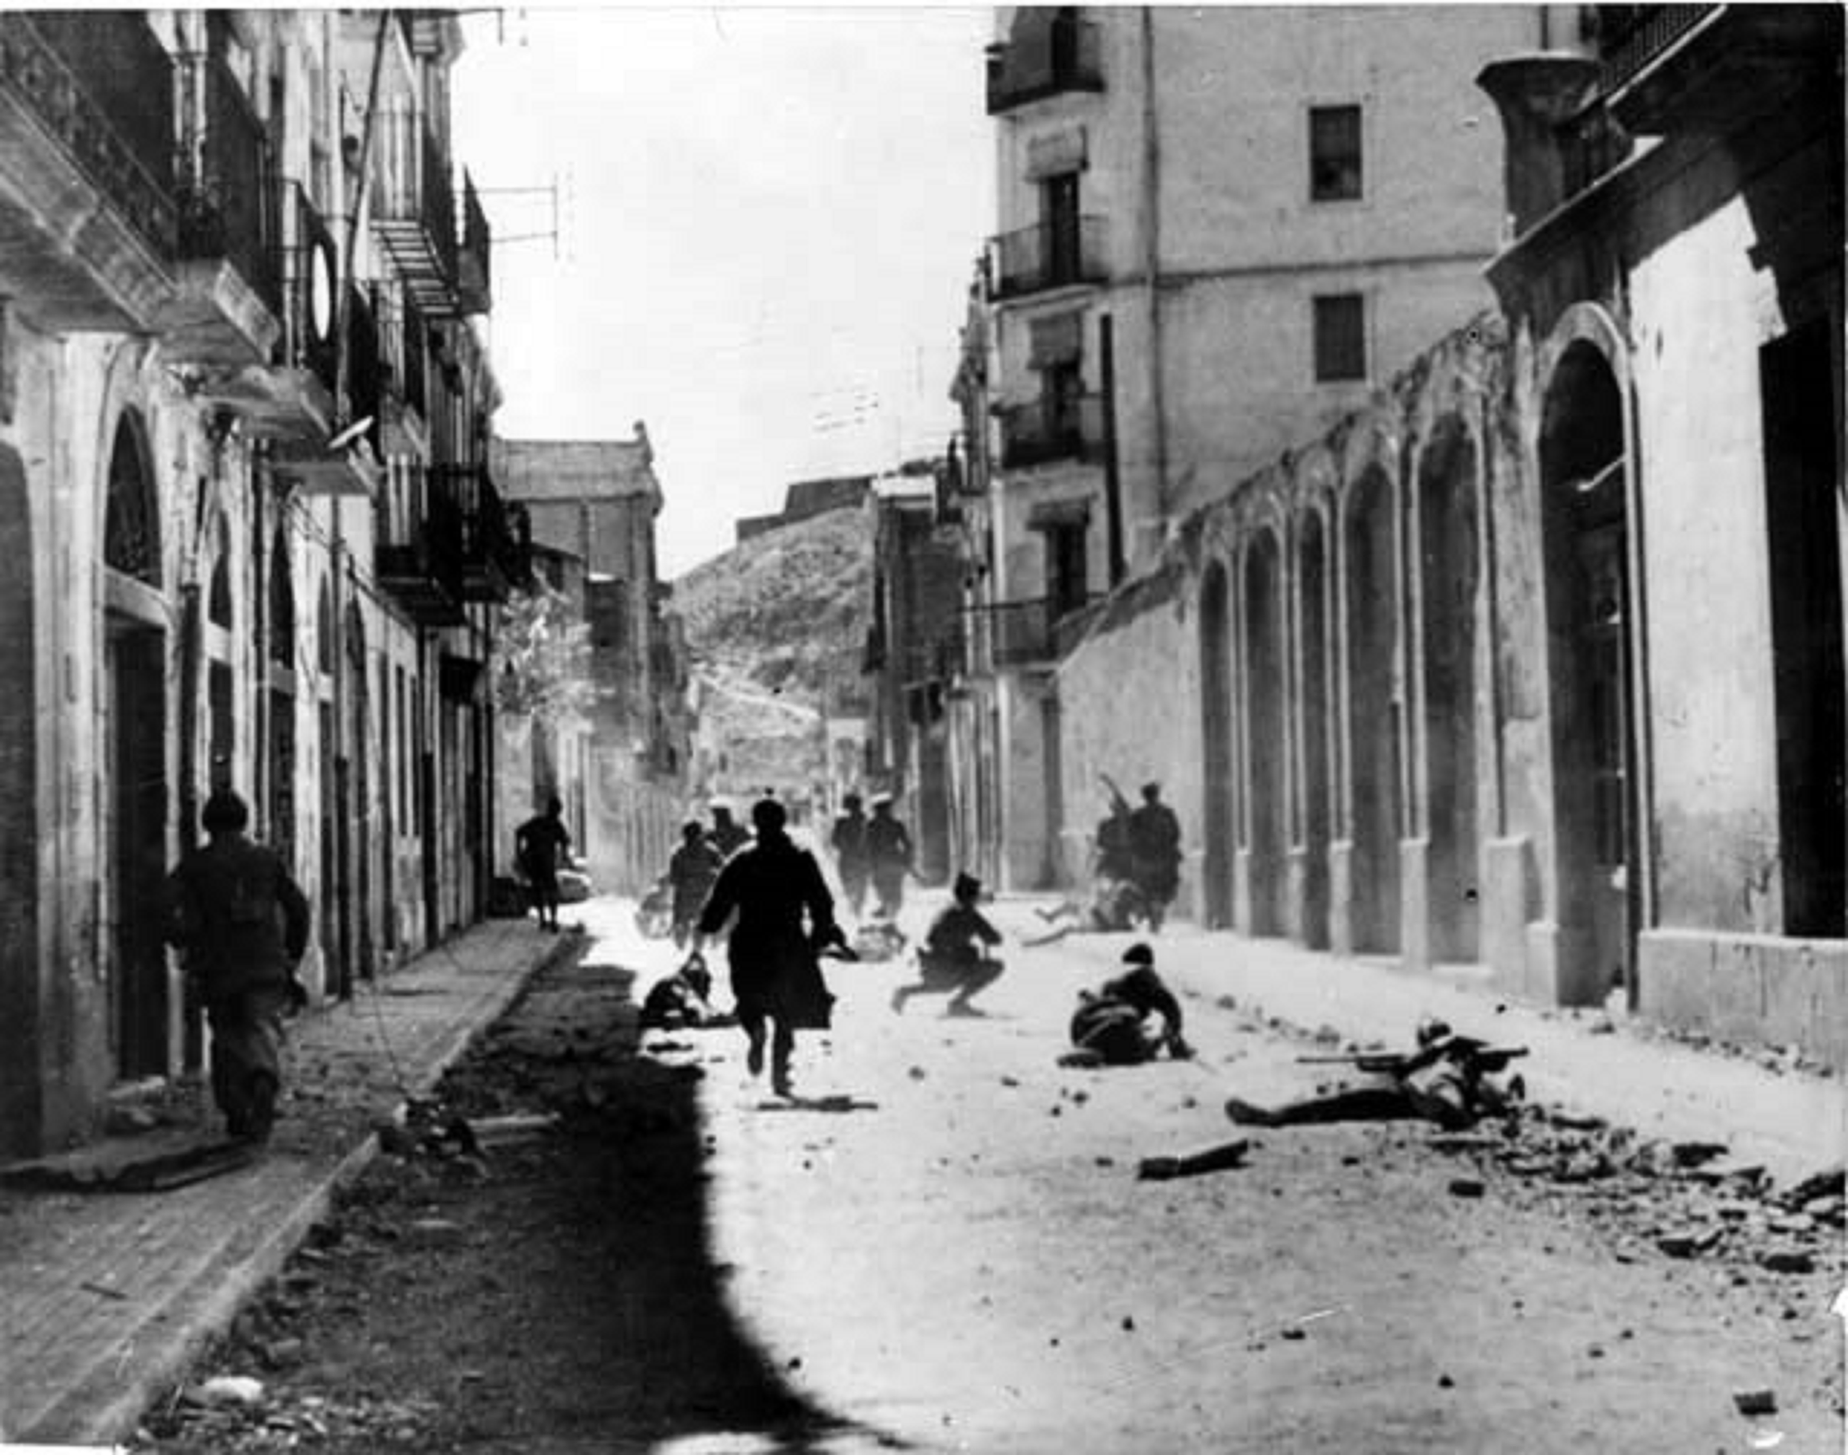
[[[444,1073],[488,1027],[501,1019],[534,979],[578,953],[584,944],[588,942],[582,934],[560,936],[523,973],[510,977],[505,986],[484,997],[477,1004],[477,1014],[458,1025],[456,1034],[436,1052],[425,1075],[418,1078],[414,1091],[421,1095],[436,1086]],[[399,1100],[392,1108],[392,1121],[401,1123],[407,1110],[408,1102]],[[68,1442],[131,1438],[140,1416],[161,1390],[174,1383],[198,1353],[231,1326],[257,1289],[281,1272],[296,1248],[301,1246],[309,1228],[327,1217],[334,1193],[364,1172],[377,1156],[379,1134],[368,1132],[364,1141],[342,1156],[329,1172],[314,1180],[296,1209],[242,1259],[233,1263],[220,1281],[205,1291],[192,1285],[176,1289],[124,1341],[133,1350],[142,1333],[170,1320],[172,1328],[161,1331],[157,1352],[142,1353],[137,1359],[139,1366],[120,1376],[111,1374],[109,1366],[113,1359],[126,1363],[126,1353],[105,1352],[72,1389],[41,1411],[28,1427],[9,1435],[20,1440]]]

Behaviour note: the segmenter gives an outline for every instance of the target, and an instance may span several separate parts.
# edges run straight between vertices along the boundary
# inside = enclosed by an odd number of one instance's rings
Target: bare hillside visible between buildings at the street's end
[[[872,606],[872,537],[854,506],[754,535],[675,582],[706,731],[732,790],[821,779],[821,709],[852,709]],[[843,702],[843,696],[848,702]]]

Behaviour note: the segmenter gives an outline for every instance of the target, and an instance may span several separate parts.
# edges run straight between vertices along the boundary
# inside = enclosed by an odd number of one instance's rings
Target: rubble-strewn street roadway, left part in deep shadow
[[[896,1016],[898,962],[833,968],[835,1028],[782,1100],[736,1030],[632,1056],[673,951],[623,901],[582,908],[582,962],[541,975],[150,1411],[159,1449],[1839,1440],[1841,1233],[1756,1198],[1750,1169],[1671,1171],[1530,1115],[1514,1137],[1262,1130],[1244,1167],[1144,1182],[1142,1158],[1233,1136],[1227,1095],[1312,1091],[1340,1067],[1295,1058],[1342,1047],[1183,982],[1196,1062],[1059,1067],[1076,990],[1127,944],[1072,936],[1015,947],[979,1019]],[[484,1121],[519,1113],[560,1121]],[[1684,1224],[1722,1232],[1672,1257]],[[1761,1267],[1772,1245],[1800,1270]],[[222,1374],[262,1401],[207,1405]],[[1741,1413],[1754,1390],[1774,1413]]]

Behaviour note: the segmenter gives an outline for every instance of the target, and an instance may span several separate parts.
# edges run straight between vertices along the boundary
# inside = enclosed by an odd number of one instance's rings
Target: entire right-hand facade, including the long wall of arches
[[[1841,15],[1573,33],[1482,70],[1501,314],[1085,620],[1063,798],[1161,777],[1207,923],[1842,1065]]]

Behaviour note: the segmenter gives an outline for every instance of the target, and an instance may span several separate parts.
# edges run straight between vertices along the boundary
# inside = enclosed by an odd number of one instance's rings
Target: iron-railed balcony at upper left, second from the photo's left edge
[[[179,78],[179,275],[161,342],[179,364],[266,364],[283,331],[283,194],[270,138],[224,61],[188,55]]]

